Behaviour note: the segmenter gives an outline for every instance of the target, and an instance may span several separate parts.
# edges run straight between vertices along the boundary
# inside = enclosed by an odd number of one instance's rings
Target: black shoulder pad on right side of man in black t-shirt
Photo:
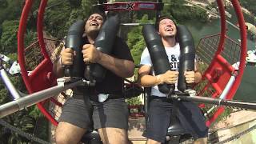
[[[120,18],[118,15],[110,16],[110,18],[107,18],[106,22],[104,22],[94,43],[96,48],[102,51],[102,53],[111,54],[119,26]],[[106,69],[100,64],[94,63],[90,66],[90,75],[96,82],[102,82],[105,74]]]

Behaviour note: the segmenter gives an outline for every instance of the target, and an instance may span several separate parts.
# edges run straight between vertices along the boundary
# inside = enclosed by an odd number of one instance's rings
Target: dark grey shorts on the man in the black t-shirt
[[[86,104],[85,104],[86,103]],[[124,98],[93,102],[89,99],[68,98],[62,106],[59,122],[69,122],[86,130],[114,127],[128,129],[128,106]]]

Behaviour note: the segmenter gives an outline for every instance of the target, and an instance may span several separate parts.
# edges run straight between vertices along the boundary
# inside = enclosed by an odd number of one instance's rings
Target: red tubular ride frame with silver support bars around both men
[[[159,3],[162,3],[162,1],[158,1]],[[213,67],[217,66],[222,67],[223,65],[228,67],[227,69],[230,71],[230,74],[226,74],[226,78],[232,78],[234,79],[233,85],[230,85],[230,87],[227,87],[225,90],[226,96],[225,99],[216,98],[219,94],[222,94],[224,90],[220,89],[218,90],[218,94],[215,94],[213,98],[202,98],[202,97],[175,97],[179,99],[185,99],[189,101],[194,102],[204,102],[204,103],[210,103],[210,104],[216,104],[216,105],[225,105],[225,106],[237,106],[241,108],[246,109],[252,109],[255,110],[256,106],[254,103],[248,103],[248,102],[233,102],[229,101],[233,98],[236,90],[238,89],[238,86],[242,80],[242,74],[244,70],[244,66],[246,64],[246,26],[242,15],[242,10],[239,6],[238,0],[231,0],[234,10],[238,17],[238,24],[240,27],[240,35],[241,35],[241,52],[240,52],[240,65],[238,68],[238,72],[235,72],[234,68],[230,66],[230,64],[227,64],[225,58],[222,58],[220,55],[222,53],[222,50],[224,49],[224,42],[226,39],[226,18],[225,18],[225,9],[222,0],[217,0],[218,3],[218,9],[219,14],[221,16],[221,34],[220,34],[220,41],[218,43],[218,50],[214,54],[214,60],[218,61],[212,62],[208,69],[206,70],[205,74],[203,76],[210,81],[210,84],[215,86],[218,89],[218,84],[216,82],[213,82],[213,75],[214,71],[216,71]],[[49,54],[47,54],[46,46],[43,38],[42,33],[42,24],[43,24],[43,14],[46,9],[46,3],[47,0],[42,0],[41,4],[38,9],[38,42],[41,48],[41,52],[43,54],[44,59],[42,62],[31,72],[29,73],[26,69],[26,58],[25,58],[25,46],[24,46],[24,35],[26,32],[26,21],[31,9],[31,6],[33,4],[32,0],[26,0],[26,4],[22,11],[22,17],[19,24],[19,30],[18,30],[18,62],[21,66],[21,72],[22,72],[22,78],[23,81],[26,84],[26,88],[29,91],[29,95],[23,98],[18,98],[14,102],[7,103],[5,105],[0,106],[0,118],[12,114],[15,111],[22,110],[26,106],[31,106],[37,103],[38,108],[42,111],[43,114],[46,115],[46,118],[50,120],[55,126],[58,125],[58,122],[53,118],[53,116],[46,110],[46,108],[43,106],[43,101],[47,98],[50,98],[50,101],[54,102],[56,105],[60,105],[61,103],[56,102],[54,98],[51,98],[53,94],[58,94],[62,90],[69,89],[74,86],[78,85],[86,85],[89,84],[88,82],[80,79],[77,82],[74,83],[65,83],[65,79],[62,81],[61,85],[54,86],[56,84],[56,78],[54,78],[54,75],[52,74],[52,62],[50,60]],[[125,5],[125,2],[118,2],[118,6]],[[128,2],[130,4],[134,3],[134,6],[139,6],[140,2]],[[142,2],[143,3],[143,2]],[[156,2],[144,2],[146,4],[145,6],[157,6]],[[102,6],[114,6],[114,4],[103,4]],[[130,5],[131,6],[131,5]],[[135,9],[135,8],[134,8]],[[147,9],[147,10],[155,10],[156,7]],[[108,10],[108,9],[106,9]],[[123,10],[132,10],[132,9],[123,9]],[[139,7],[137,9],[139,10]],[[159,13],[158,13],[159,14]],[[65,85],[64,85],[65,83]],[[53,85],[54,84],[54,85]],[[54,86],[54,87],[53,87]],[[215,98],[215,99],[214,99]],[[218,115],[221,114],[224,111],[224,107],[221,106],[218,108],[218,110],[214,113],[214,115],[209,118],[208,122],[206,123],[208,126],[212,122],[215,121],[216,118],[218,118]]]

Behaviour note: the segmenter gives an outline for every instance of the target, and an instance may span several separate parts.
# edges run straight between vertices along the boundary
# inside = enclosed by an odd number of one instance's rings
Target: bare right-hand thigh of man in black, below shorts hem
[[[128,134],[127,130],[119,128],[101,128],[98,129],[98,133],[102,139],[102,142],[105,144],[127,144],[128,143]]]

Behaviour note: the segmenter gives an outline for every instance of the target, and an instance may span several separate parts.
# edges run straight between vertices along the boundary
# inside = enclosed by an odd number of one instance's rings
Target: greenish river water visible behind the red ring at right
[[[232,14],[232,18],[229,18],[228,20],[234,25],[237,24],[237,18],[236,15],[234,15],[234,11],[230,10],[230,14]],[[249,16],[245,15],[245,21],[251,22],[253,21],[250,19]],[[182,22],[181,24],[184,24],[188,27],[190,32],[193,35],[195,46],[198,46],[198,42],[200,38],[204,38],[207,35],[212,34],[219,34],[220,33],[220,20],[215,19],[212,22],[202,23],[195,20]],[[239,30],[234,28],[234,26],[231,26],[230,24],[227,24],[227,36],[232,38],[235,42],[239,43],[240,33]],[[247,50],[254,50],[256,47],[256,39],[251,40],[250,38],[247,38]],[[237,93],[234,96],[234,99],[237,100],[246,100],[249,102],[256,102],[256,66],[247,66],[246,70],[244,72],[241,85],[238,88]]]

